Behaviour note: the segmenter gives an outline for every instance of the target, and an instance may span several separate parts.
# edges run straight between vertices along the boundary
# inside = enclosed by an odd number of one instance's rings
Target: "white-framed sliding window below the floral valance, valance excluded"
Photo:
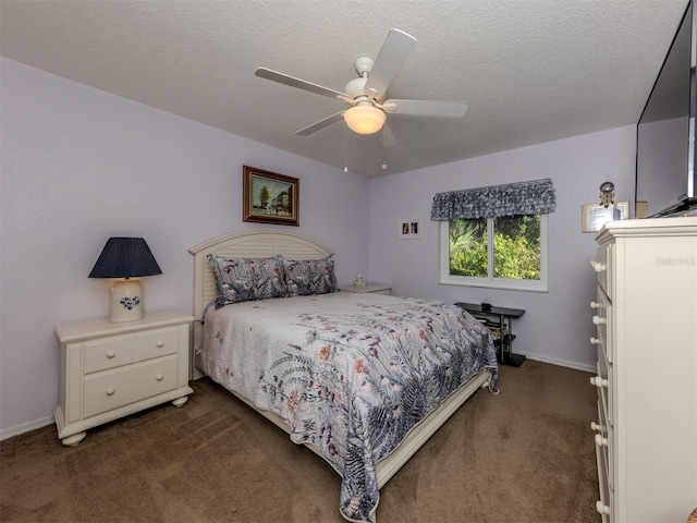
[[[440,223],[440,282],[547,291],[547,214]]]

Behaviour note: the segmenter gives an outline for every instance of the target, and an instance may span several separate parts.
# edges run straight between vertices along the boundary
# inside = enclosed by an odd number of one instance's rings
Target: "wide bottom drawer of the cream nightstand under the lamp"
[[[83,417],[151,398],[178,385],[176,355],[85,377]]]

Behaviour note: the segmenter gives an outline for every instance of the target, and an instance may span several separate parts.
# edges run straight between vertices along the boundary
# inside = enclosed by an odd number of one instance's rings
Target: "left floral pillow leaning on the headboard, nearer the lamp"
[[[283,265],[278,257],[225,258],[215,254],[207,257],[218,289],[216,308],[288,294]]]

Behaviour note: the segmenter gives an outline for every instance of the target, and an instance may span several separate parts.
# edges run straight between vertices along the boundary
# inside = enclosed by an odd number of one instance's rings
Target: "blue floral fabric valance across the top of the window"
[[[552,180],[466,188],[433,196],[431,220],[489,218],[553,212],[557,206]]]

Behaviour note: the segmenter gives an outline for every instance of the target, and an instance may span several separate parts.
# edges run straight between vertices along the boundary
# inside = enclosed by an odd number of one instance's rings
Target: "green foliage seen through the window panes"
[[[539,280],[539,215],[450,220],[450,273],[489,276],[488,227],[493,227],[493,277]]]

